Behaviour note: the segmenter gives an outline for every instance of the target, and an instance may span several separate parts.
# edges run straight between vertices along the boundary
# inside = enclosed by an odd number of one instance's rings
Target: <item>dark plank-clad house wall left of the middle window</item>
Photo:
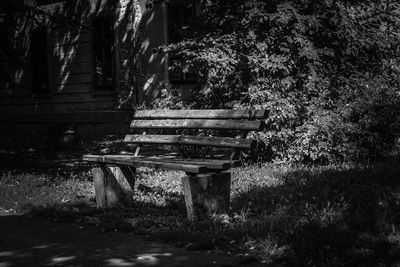
[[[49,20],[43,21],[47,28],[48,84],[49,93],[35,95],[32,92],[32,65],[30,33],[35,27],[31,20],[16,18],[14,47],[24,56],[24,64],[8,69],[8,76],[0,79],[0,112],[58,112],[79,110],[115,109],[117,104],[116,86],[114,92],[94,94],[93,92],[93,33],[90,19],[109,7],[93,8],[87,1],[76,1],[68,5],[46,6],[55,14],[72,18],[71,25],[64,26]],[[3,64],[8,62],[3,61]]]

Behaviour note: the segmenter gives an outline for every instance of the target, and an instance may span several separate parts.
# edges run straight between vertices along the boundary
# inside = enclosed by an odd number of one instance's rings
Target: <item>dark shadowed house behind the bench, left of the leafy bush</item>
[[[8,12],[0,21],[22,59],[13,64],[0,50],[3,144],[43,144],[54,125],[83,135],[122,129],[129,114],[160,89],[185,83],[181,74],[168,71],[168,56],[157,48],[179,40],[180,30],[196,17],[199,0],[24,4],[35,13]]]

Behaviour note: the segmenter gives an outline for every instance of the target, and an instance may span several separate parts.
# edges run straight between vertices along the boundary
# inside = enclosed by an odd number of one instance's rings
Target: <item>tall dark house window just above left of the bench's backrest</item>
[[[114,88],[113,25],[111,18],[93,19],[94,89]]]

